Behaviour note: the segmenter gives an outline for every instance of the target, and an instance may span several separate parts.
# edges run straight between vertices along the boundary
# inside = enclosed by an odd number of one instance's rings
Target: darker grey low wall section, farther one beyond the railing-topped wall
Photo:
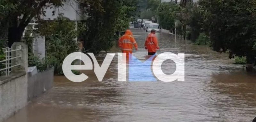
[[[46,90],[52,89],[53,68],[44,72],[38,72],[35,75],[28,75],[28,101],[39,97]]]

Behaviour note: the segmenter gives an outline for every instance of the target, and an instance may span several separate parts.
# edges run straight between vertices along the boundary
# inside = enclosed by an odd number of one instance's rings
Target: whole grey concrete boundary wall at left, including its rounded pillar
[[[25,107],[28,100],[40,96],[52,88],[53,68],[39,73],[28,72],[28,47],[22,42],[15,42],[12,50],[12,68],[10,76],[0,77],[0,122]],[[29,75],[28,75],[29,74]],[[31,75],[32,74],[32,75]]]

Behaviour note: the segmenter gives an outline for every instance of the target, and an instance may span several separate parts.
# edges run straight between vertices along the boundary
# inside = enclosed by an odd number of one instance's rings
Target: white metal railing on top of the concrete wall
[[[5,60],[0,61],[0,64],[5,65],[5,68],[1,68],[0,72],[4,71],[5,72],[5,76],[10,76],[10,72],[12,71],[12,68],[21,65],[20,63],[12,65],[12,63],[11,63],[11,61],[13,59],[21,58],[21,56],[12,57],[11,53],[14,52],[14,51],[20,51],[20,50],[21,50],[21,47],[18,48],[18,49],[15,49],[15,50],[12,50],[9,47],[3,48],[4,54],[5,54]]]

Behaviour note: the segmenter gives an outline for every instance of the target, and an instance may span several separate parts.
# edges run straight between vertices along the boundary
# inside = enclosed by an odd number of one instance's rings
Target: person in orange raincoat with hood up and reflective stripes
[[[122,49],[122,53],[126,53],[126,57],[129,57],[129,53],[132,54],[133,46],[138,50],[138,45],[133,38],[131,30],[126,30],[124,35],[118,41],[119,47]]]

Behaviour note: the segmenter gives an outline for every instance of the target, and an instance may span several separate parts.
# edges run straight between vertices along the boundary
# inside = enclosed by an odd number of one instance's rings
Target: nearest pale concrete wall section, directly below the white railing
[[[27,87],[26,72],[0,78],[0,122],[27,105]]]

